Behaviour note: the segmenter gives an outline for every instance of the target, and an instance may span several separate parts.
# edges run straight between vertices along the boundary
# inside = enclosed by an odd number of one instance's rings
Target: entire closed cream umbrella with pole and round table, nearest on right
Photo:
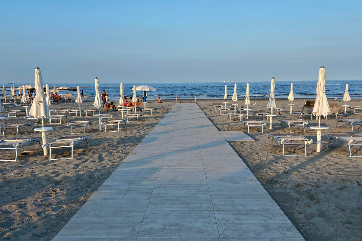
[[[329,109],[327,96],[325,95],[325,69],[323,65],[319,68],[316,91],[317,91],[317,96],[312,113],[319,120],[318,120],[318,126],[311,126],[311,129],[317,130],[317,152],[320,152],[320,141],[321,141],[322,130],[329,129],[328,126],[320,126],[320,116],[325,117],[329,113],[331,113],[331,110]]]

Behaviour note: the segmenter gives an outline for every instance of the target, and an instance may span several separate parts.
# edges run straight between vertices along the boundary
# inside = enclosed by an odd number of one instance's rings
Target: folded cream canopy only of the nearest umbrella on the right
[[[327,96],[325,96],[325,69],[323,65],[319,69],[317,96],[312,112],[315,116],[327,116],[329,113],[331,113]]]

